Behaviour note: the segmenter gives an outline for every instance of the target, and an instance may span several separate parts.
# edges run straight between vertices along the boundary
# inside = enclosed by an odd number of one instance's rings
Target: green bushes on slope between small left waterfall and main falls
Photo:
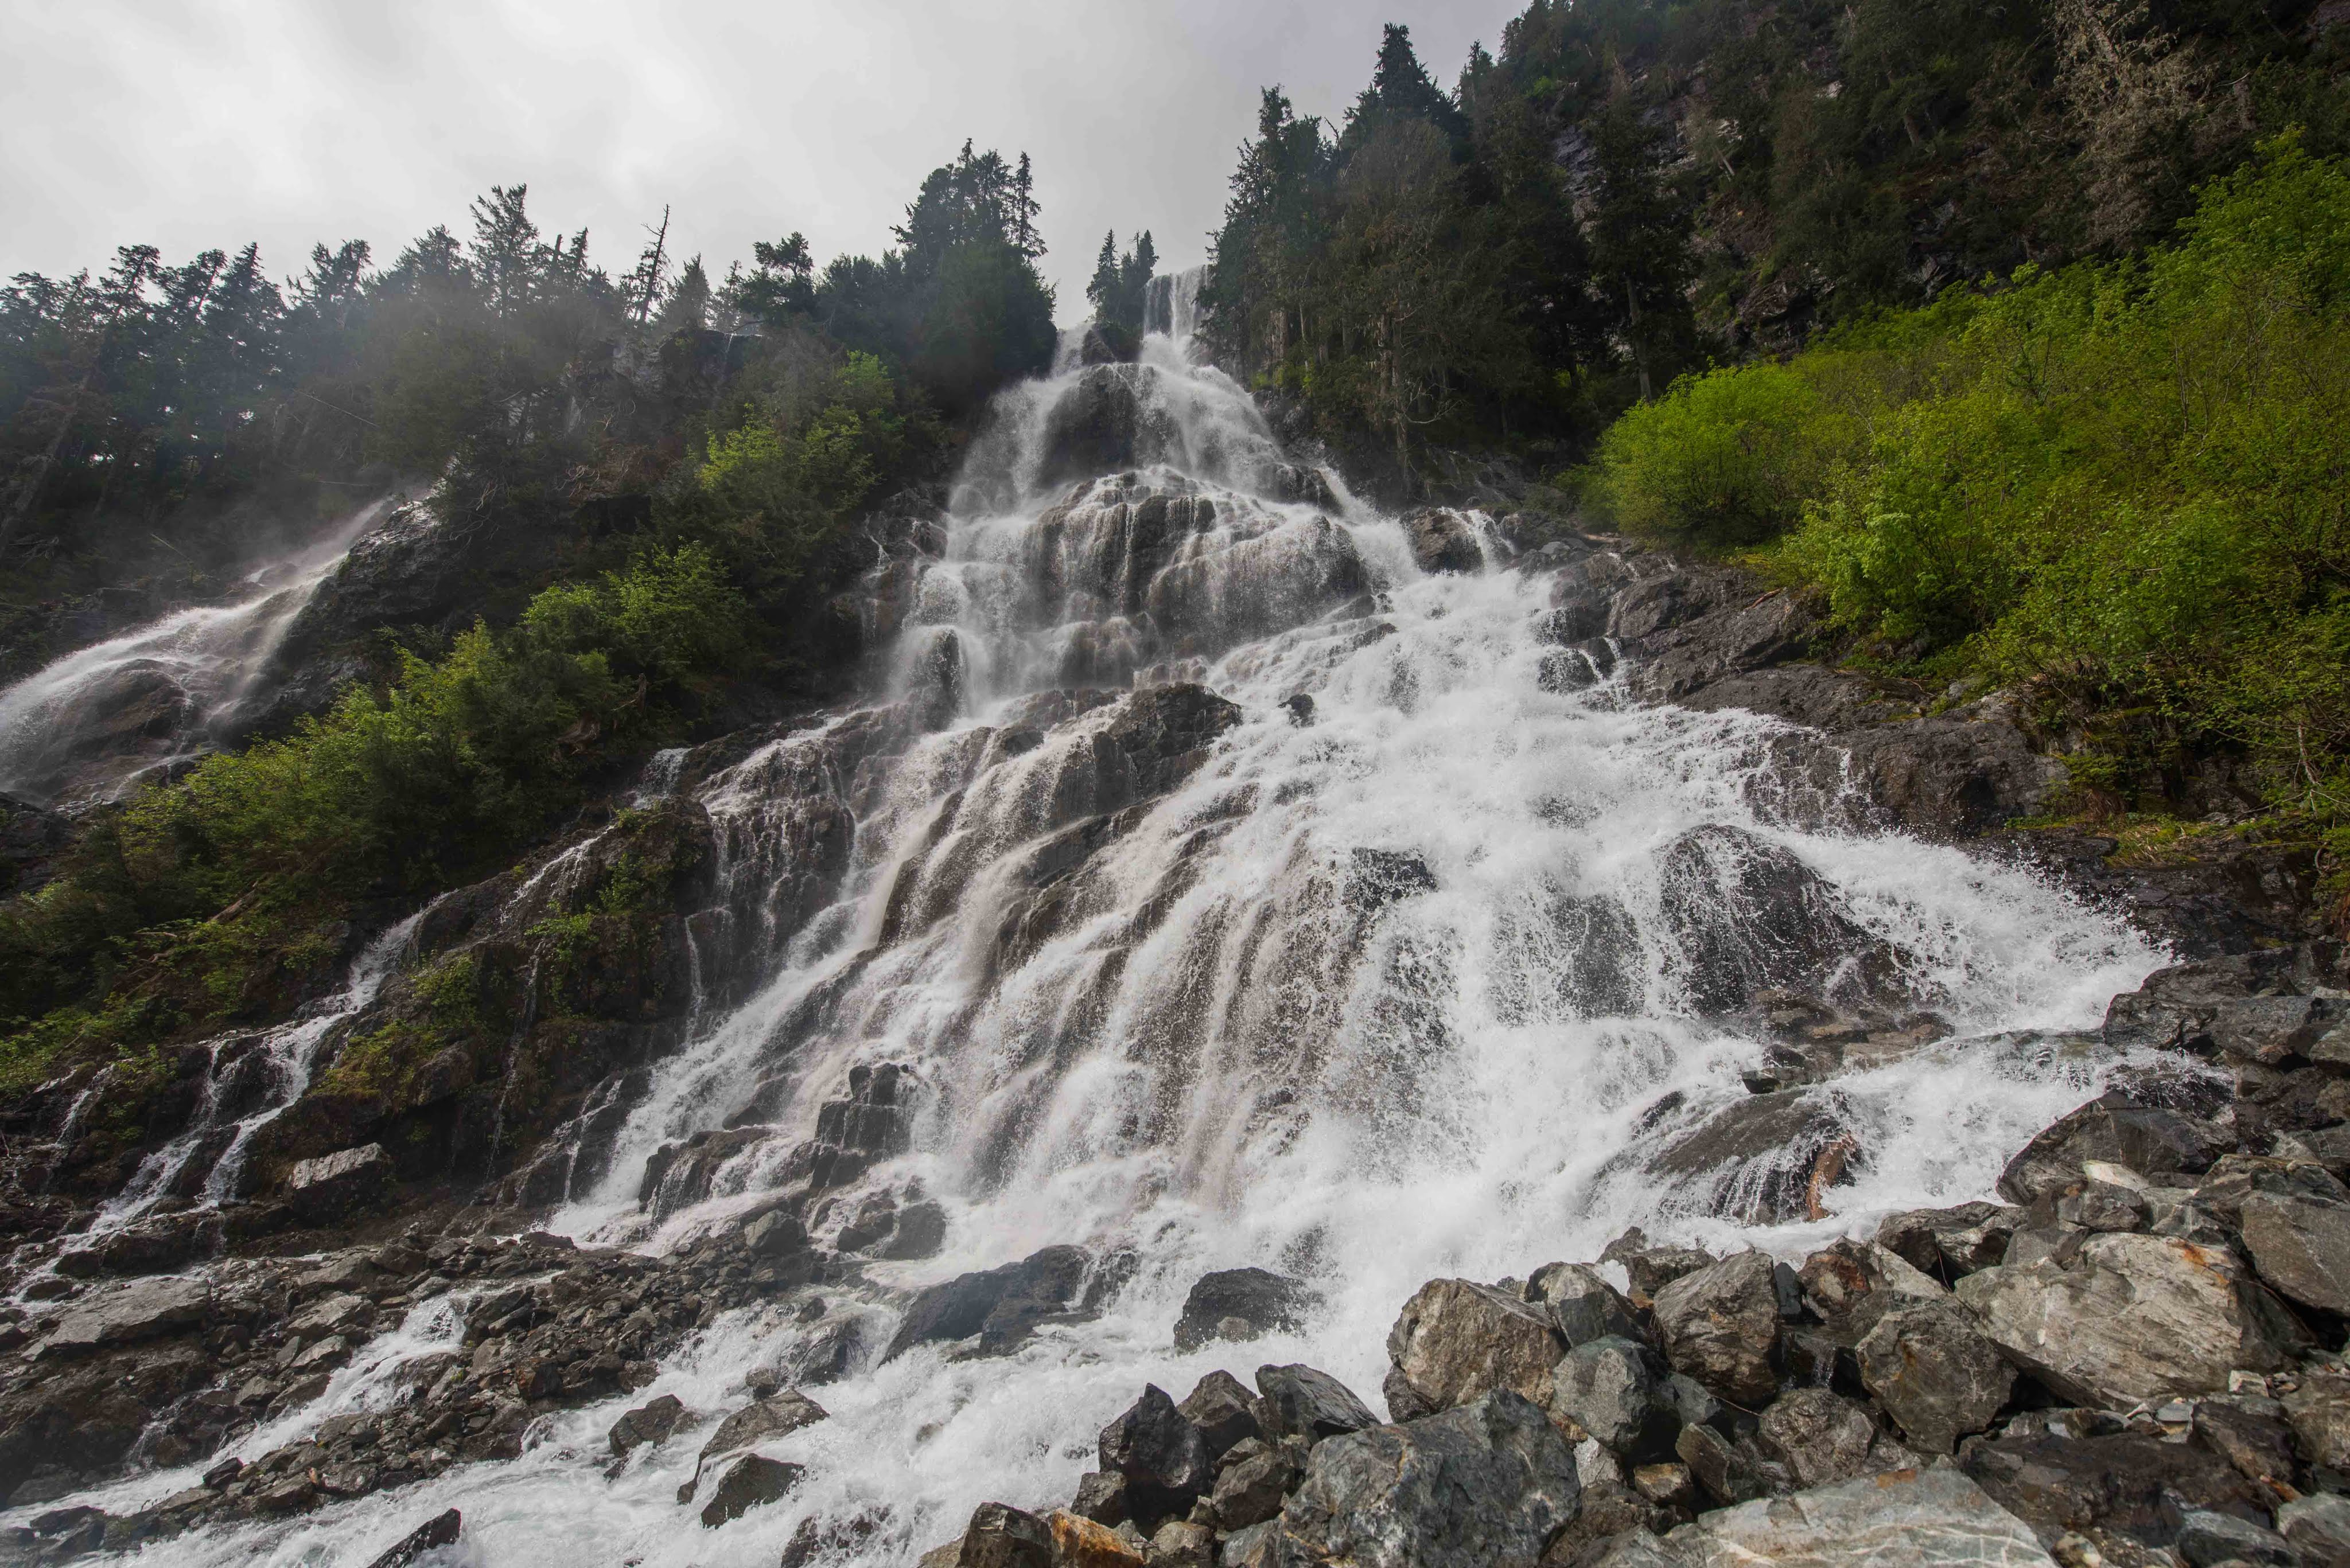
[[[479,875],[670,738],[745,625],[707,548],[646,552],[134,797],[0,905],[0,1077],[282,1011],[352,903]]]

